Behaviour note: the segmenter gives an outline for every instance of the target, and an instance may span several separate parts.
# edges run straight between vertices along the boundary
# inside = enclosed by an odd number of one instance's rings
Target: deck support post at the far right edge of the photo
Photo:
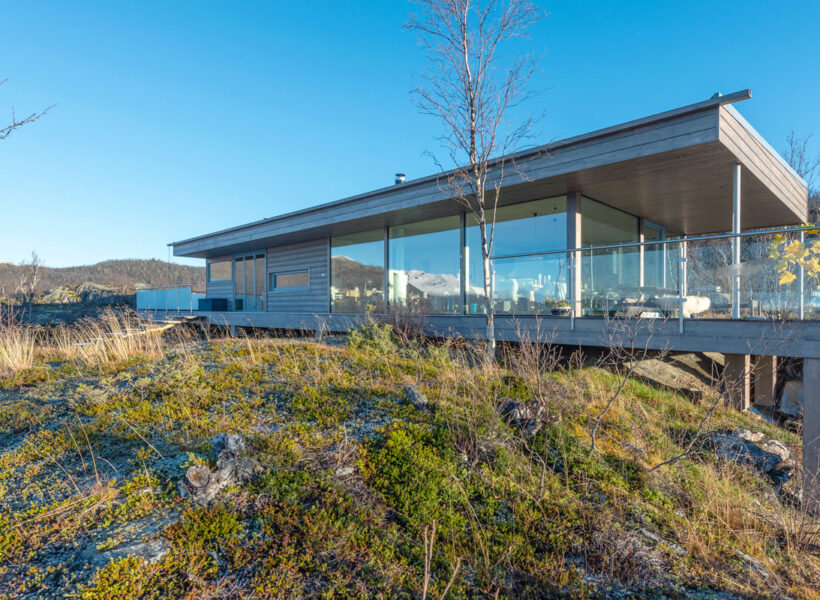
[[[803,359],[803,503],[820,508],[820,358]]]

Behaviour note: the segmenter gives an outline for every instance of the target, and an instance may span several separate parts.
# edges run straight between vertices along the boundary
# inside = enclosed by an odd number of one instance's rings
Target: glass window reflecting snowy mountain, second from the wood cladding
[[[390,308],[422,314],[461,311],[461,218],[390,228]]]

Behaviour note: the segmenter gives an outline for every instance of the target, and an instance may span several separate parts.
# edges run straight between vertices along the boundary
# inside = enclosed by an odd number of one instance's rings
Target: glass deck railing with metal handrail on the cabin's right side
[[[804,265],[818,234],[788,227],[496,256],[494,308],[567,316],[573,327],[583,316],[676,318],[681,329],[688,318],[815,318],[818,282]]]

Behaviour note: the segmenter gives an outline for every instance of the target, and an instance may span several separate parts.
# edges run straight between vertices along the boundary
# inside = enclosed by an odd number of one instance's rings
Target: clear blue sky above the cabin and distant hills
[[[820,2],[542,5],[539,142],[749,87],[736,106],[776,148],[795,130],[820,151]],[[0,260],[165,258],[173,240],[434,172],[410,10],[1,2],[0,124],[58,105],[0,142]]]

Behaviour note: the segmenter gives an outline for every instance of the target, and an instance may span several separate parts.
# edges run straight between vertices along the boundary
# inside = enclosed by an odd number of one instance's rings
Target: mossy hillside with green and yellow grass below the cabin
[[[451,598],[595,597],[620,584],[647,597],[818,597],[799,515],[758,474],[697,455],[648,472],[681,451],[708,403],[630,382],[590,454],[612,375],[539,385],[441,348],[377,346],[223,340],[0,380],[0,596],[418,598],[435,521],[430,598],[459,560]],[[409,383],[434,411],[404,400]],[[561,420],[526,439],[496,414],[505,396],[538,396]],[[710,427],[797,443],[722,408]],[[263,471],[194,507],[176,482],[213,462],[219,432],[241,432]],[[99,570],[102,552],[154,536],[171,548],[158,562]]]

